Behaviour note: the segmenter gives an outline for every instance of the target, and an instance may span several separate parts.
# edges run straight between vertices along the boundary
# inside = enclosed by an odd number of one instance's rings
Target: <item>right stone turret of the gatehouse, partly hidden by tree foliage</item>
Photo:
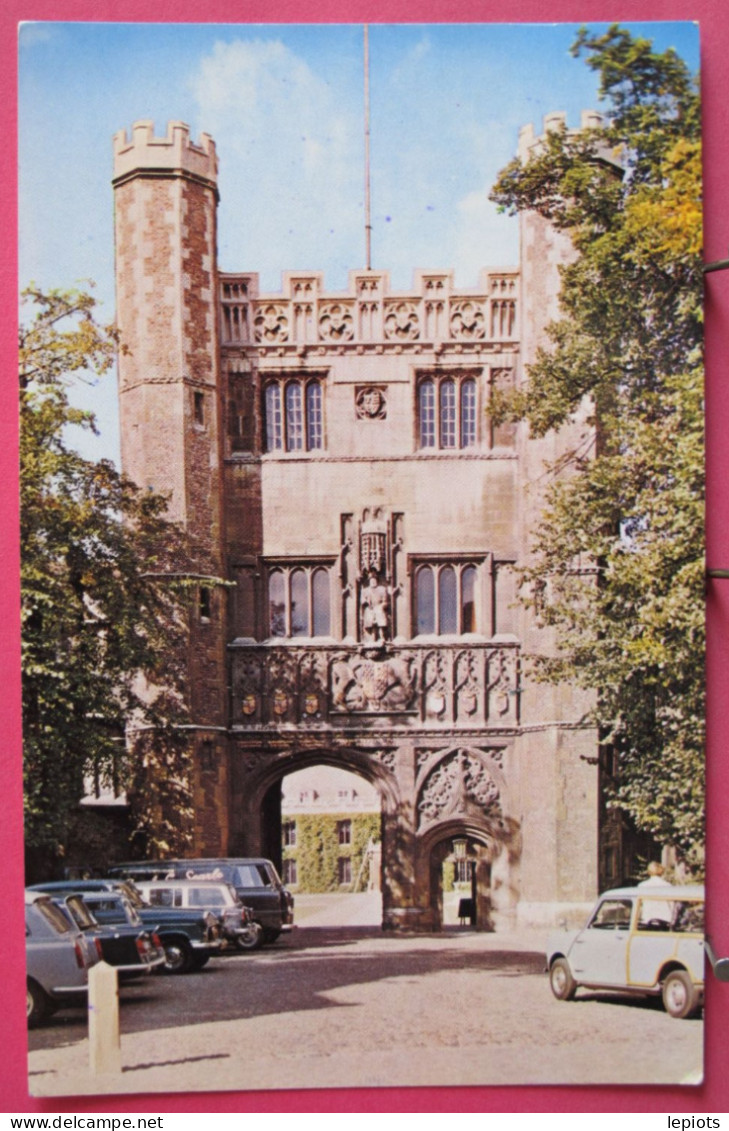
[[[602,119],[593,111],[583,111],[580,130],[595,129]],[[537,135],[533,126],[526,126],[519,135],[518,155],[522,163],[538,156],[549,132],[569,130],[564,113],[545,115],[544,131]],[[607,148],[598,153],[600,161],[616,164]],[[618,166],[616,165],[616,169]],[[520,381],[536,360],[539,347],[549,349],[546,335],[549,322],[561,317],[561,268],[571,264],[575,250],[570,235],[559,231],[537,211],[522,211],[520,225],[520,275],[522,295]],[[589,455],[592,425],[589,406],[583,413],[545,437],[520,434],[521,499],[518,512],[520,559],[529,561],[531,538],[541,520],[545,504],[544,491],[552,482],[545,474],[572,449]],[[552,633],[552,634],[550,634]],[[522,610],[519,636],[526,651],[556,651],[558,640],[553,630],[537,630],[532,616]],[[524,856],[522,899],[526,906],[536,906],[541,891],[562,890],[571,896],[589,890],[598,873],[598,771],[595,765],[595,734],[590,729],[553,727],[553,719],[578,719],[588,714],[591,700],[587,692],[569,684],[526,683],[522,696],[524,724],[523,758],[530,766],[523,793],[524,810],[530,814],[524,821]],[[556,827],[554,838],[540,844],[539,838],[527,836],[529,824],[544,798],[550,796],[555,810],[565,815]],[[569,862],[569,863],[567,863]]]

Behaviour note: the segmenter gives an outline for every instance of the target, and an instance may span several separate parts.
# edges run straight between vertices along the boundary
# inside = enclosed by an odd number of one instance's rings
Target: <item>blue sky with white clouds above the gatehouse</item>
[[[696,25],[625,26],[697,70]],[[372,259],[396,288],[415,268],[453,268],[466,286],[517,262],[515,222],[488,190],[521,126],[599,109],[595,76],[570,55],[576,28],[371,27]],[[23,25],[21,285],[93,279],[113,318],[112,136],[182,119],[218,147],[220,267],[258,270],[264,290],[301,269],[344,288],[365,256],[362,53],[358,25]],[[83,392],[101,430],[92,456],[118,455],[113,385]]]

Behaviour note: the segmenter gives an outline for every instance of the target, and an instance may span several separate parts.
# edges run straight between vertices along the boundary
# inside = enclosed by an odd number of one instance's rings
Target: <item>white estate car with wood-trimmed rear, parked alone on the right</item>
[[[669,883],[616,888],[598,899],[580,931],[547,943],[555,998],[580,986],[661,995],[671,1017],[691,1017],[704,996],[704,889]]]

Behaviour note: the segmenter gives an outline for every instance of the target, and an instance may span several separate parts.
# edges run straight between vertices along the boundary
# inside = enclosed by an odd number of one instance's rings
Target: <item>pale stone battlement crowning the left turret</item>
[[[167,135],[155,137],[155,123],[134,122],[131,140],[127,130],[114,135],[114,183],[139,171],[156,173],[188,173],[217,183],[218,158],[215,141],[208,133],[200,135],[200,144],[190,140],[185,122],[168,122]]]

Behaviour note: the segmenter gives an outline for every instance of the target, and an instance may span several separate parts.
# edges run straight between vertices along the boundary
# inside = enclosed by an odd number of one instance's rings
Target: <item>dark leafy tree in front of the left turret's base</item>
[[[110,370],[114,328],[78,291],[31,287],[23,303],[31,314],[19,335],[25,820],[28,871],[47,875],[84,847],[72,841],[84,835],[79,801],[89,778],[130,788],[138,829],[155,847],[183,847],[185,598],[159,575],[186,547],[163,498],[70,447],[75,429],[95,430],[93,415],[71,404],[70,385]],[[145,736],[136,763],[130,724]]]

